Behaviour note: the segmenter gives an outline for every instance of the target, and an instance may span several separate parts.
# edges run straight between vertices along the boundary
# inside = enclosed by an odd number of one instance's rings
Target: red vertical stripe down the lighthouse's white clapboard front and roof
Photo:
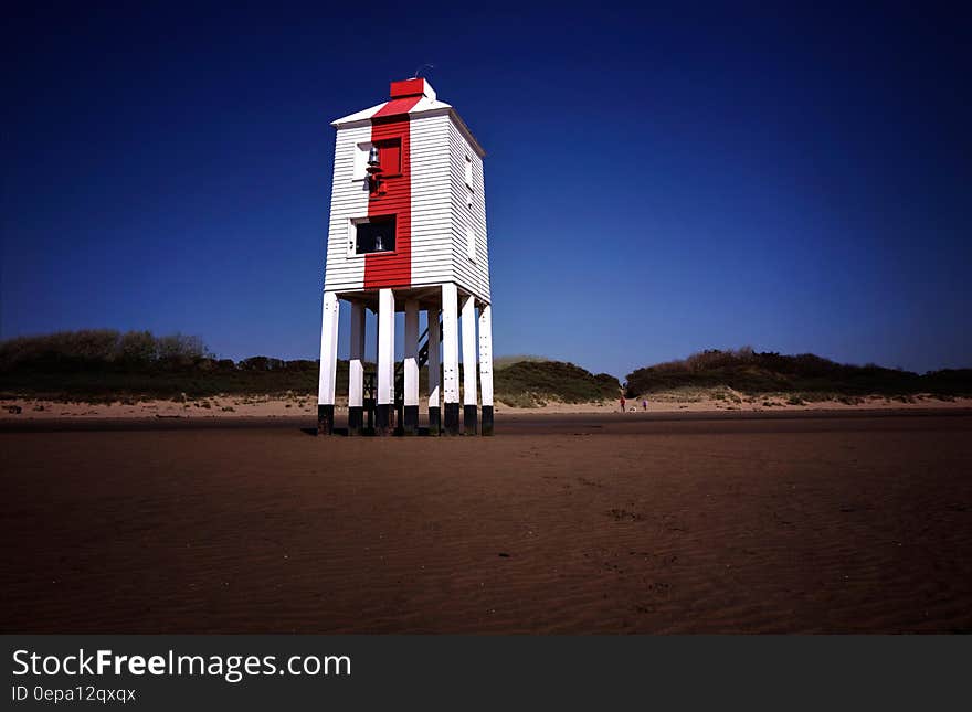
[[[409,111],[421,96],[393,99],[371,118],[371,141],[401,142],[401,177],[389,178],[381,195],[368,199],[368,216],[395,216],[394,254],[364,256],[364,288],[408,287],[412,284],[412,166]]]

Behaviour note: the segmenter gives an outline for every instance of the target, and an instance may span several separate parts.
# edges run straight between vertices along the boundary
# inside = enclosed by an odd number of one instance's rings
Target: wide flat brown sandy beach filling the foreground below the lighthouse
[[[968,412],[20,423],[4,633],[972,630]]]

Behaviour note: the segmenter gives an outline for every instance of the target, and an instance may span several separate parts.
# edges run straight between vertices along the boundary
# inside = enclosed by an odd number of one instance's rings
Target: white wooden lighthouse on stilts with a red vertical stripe
[[[426,363],[429,432],[458,434],[462,348],[463,431],[492,435],[493,312],[482,147],[423,78],[392,82],[388,102],[332,126],[318,432],[335,428],[338,316],[346,301],[349,434],[366,431],[372,404],[377,434],[388,434],[392,422],[399,432],[416,434],[419,374]],[[364,368],[366,309],[378,315],[373,374]],[[397,311],[404,312],[401,369],[394,358]],[[420,311],[427,314],[422,333]]]

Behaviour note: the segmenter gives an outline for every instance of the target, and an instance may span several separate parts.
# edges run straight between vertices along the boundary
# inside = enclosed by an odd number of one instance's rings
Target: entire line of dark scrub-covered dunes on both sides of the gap
[[[422,369],[423,392],[427,378],[427,370]],[[184,401],[220,394],[276,396],[315,393],[317,381],[315,360],[216,359],[201,339],[182,334],[156,337],[147,331],[86,330],[0,342],[2,397],[105,402]],[[346,393],[347,387],[348,362],[339,360],[337,392]],[[513,355],[496,359],[494,390],[497,401],[533,407],[550,402],[613,401],[621,392],[621,383],[613,375],[593,374],[572,363]],[[874,364],[841,364],[809,353],[781,355],[743,348],[704,351],[679,361],[637,369],[627,375],[625,394],[632,398],[682,402],[752,402],[765,395],[793,404],[854,403],[869,395],[907,400],[931,394],[948,400],[972,395],[972,370],[919,375]]]

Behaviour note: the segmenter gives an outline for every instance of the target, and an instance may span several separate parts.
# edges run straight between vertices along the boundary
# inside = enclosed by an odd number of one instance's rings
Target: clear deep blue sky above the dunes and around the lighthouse
[[[19,4],[0,338],[317,358],[328,124],[432,62],[488,152],[497,353],[622,378],[742,344],[972,365],[968,17]]]

